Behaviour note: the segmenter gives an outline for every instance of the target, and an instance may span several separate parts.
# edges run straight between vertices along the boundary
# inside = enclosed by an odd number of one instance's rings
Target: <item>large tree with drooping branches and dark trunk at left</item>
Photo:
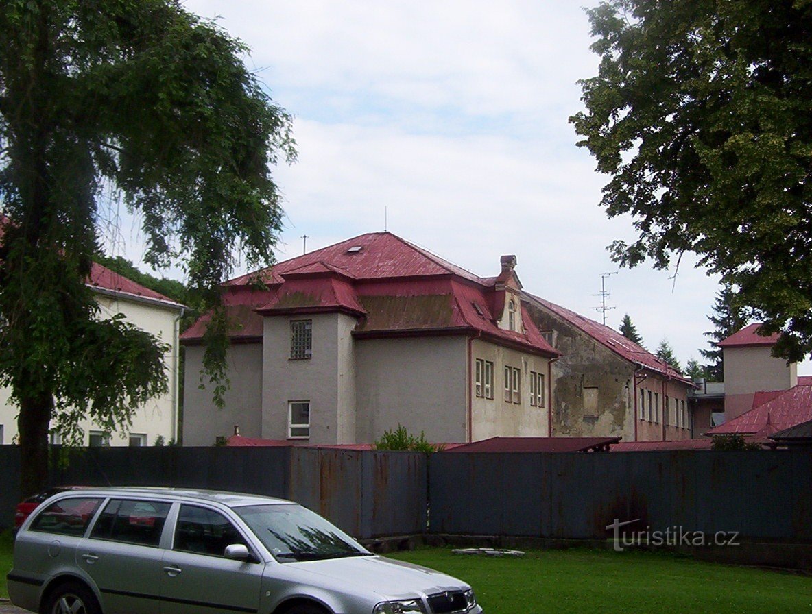
[[[2,3],[0,384],[19,406],[23,494],[47,479],[50,423],[124,430],[166,389],[164,347],[102,318],[85,286],[111,192],[141,221],[145,260],[180,261],[212,304],[235,247],[269,260],[281,226],[269,165],[293,155],[291,120],[245,50],[178,0]],[[224,320],[206,363],[217,392]]]

